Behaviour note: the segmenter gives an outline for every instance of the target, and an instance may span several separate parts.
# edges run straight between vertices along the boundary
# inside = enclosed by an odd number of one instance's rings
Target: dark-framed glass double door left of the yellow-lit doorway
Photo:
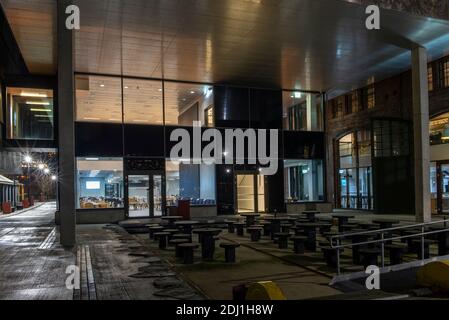
[[[128,172],[125,190],[128,218],[152,218],[164,215],[164,180],[162,172]]]

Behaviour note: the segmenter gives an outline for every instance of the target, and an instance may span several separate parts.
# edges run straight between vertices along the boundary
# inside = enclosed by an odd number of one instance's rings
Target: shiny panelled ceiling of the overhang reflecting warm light
[[[49,1],[0,1],[30,70],[38,72],[38,57],[52,60],[55,33],[37,17],[54,8]],[[74,3],[81,10],[78,72],[338,92],[409,69],[407,48],[414,44],[432,59],[449,54],[447,21],[383,10],[382,29],[368,31],[364,7],[338,0]],[[31,28],[36,37],[26,32]]]

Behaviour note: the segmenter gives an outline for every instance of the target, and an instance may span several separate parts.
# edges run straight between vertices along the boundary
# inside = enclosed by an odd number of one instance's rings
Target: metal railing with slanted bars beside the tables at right
[[[364,246],[364,245],[370,245],[370,244],[381,244],[381,263],[382,268],[385,267],[385,243],[390,242],[393,240],[402,240],[402,239],[409,239],[409,238],[418,238],[421,237],[421,259],[425,260],[425,236],[426,235],[432,235],[432,234],[438,234],[438,233],[444,233],[449,232],[448,227],[448,218],[444,218],[440,221],[434,221],[434,222],[426,222],[426,223],[420,223],[420,224],[412,224],[412,225],[404,225],[404,226],[398,226],[393,228],[386,228],[386,229],[379,229],[379,230],[367,230],[362,232],[354,232],[354,233],[342,233],[339,235],[333,235],[330,237],[330,245],[331,248],[335,249],[337,252],[337,274],[341,274],[341,266],[340,266],[340,251],[345,248],[353,248],[356,246]],[[439,230],[433,230],[433,231],[426,231],[426,227],[433,226],[433,225],[439,225],[443,224],[443,228]],[[389,236],[392,234],[393,231],[399,231],[399,230],[407,230],[407,229],[417,229],[421,228],[421,232],[417,231],[416,234],[409,234],[409,235],[400,235],[400,236]],[[362,241],[357,243],[347,243],[342,244],[343,239],[351,239],[354,236],[363,236],[363,235],[380,235],[380,238],[368,240],[368,241]],[[387,238],[385,237],[387,235]],[[388,237],[389,236],[389,237]]]

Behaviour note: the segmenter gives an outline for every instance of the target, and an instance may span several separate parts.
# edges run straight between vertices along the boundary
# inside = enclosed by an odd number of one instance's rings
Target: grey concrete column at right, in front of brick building
[[[432,220],[430,209],[429,88],[427,51],[412,49],[415,214],[417,222]]]

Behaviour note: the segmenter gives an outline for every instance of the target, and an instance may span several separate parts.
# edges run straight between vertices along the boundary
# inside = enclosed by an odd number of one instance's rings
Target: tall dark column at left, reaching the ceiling
[[[61,244],[76,245],[74,36],[65,26],[69,0],[58,0],[59,212]]]

